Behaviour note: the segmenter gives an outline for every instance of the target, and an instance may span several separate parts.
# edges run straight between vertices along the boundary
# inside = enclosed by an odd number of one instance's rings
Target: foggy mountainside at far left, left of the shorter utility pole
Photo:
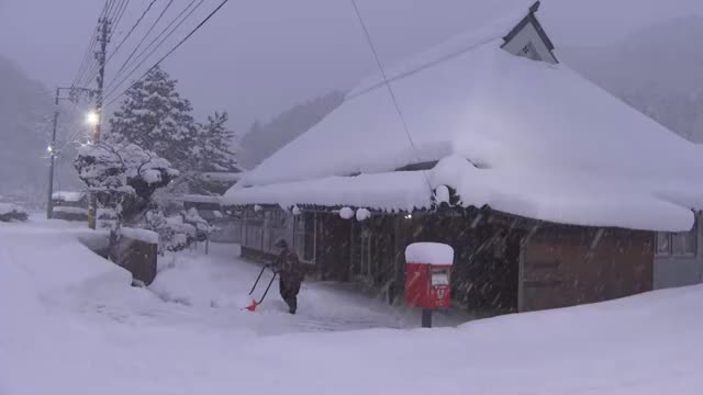
[[[46,201],[46,147],[52,111],[49,90],[27,77],[11,60],[0,56],[2,199],[35,208]],[[71,178],[65,166],[57,173],[64,174],[65,179]]]

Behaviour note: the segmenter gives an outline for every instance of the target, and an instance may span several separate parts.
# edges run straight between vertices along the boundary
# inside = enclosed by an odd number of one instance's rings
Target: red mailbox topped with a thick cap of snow
[[[439,242],[415,242],[405,248],[405,305],[425,309],[449,307],[449,276],[454,249]]]

